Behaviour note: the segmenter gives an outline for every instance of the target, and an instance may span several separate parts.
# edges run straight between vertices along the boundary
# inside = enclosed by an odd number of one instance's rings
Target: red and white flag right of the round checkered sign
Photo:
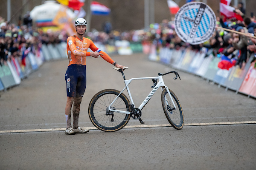
[[[236,18],[237,20],[243,21],[241,15],[234,12],[235,8],[229,6],[230,2],[231,0],[220,0],[220,13],[224,16],[224,21],[226,21],[227,18]]]

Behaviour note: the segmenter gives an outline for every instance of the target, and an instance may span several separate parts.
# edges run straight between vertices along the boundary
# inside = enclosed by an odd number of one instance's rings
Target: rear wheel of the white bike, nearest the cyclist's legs
[[[90,101],[88,113],[91,122],[99,130],[114,132],[122,129],[128,123],[131,115],[108,111],[108,106],[119,95],[120,91],[106,89],[95,94]],[[130,111],[129,99],[125,94],[120,94],[111,105],[111,109],[119,111]]]

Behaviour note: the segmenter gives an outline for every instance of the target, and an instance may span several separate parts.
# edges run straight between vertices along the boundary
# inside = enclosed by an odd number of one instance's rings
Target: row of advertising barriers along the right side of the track
[[[225,87],[226,90],[231,89],[256,97],[256,68],[254,68],[255,62],[252,62],[253,54],[243,69],[236,65],[227,70],[218,68],[221,58],[214,57],[212,49],[202,48],[201,51],[196,52],[190,49],[160,48],[159,53],[156,49],[156,45],[151,45],[148,59],[198,75],[207,81]]]

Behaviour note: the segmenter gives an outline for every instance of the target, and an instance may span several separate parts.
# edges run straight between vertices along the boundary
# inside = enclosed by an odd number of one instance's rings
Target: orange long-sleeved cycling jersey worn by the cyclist
[[[84,37],[83,40],[80,40],[79,37],[73,35],[67,38],[67,56],[69,59],[69,65],[86,65],[86,56],[90,56],[90,52],[87,52],[88,48],[90,48],[92,51],[102,53],[103,56],[100,56],[107,62],[113,64],[113,59],[111,59],[108,54],[97,48],[92,40]]]

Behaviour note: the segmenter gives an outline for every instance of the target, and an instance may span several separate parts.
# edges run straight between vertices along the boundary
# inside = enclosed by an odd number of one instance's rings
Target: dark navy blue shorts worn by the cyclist
[[[86,65],[71,64],[65,74],[67,96],[82,97],[86,88]]]

